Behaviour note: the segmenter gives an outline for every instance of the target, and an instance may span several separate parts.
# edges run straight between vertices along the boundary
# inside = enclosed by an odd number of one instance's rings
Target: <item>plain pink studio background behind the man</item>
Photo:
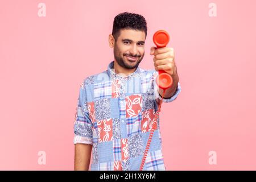
[[[38,4],[46,3],[46,17]],[[217,17],[208,15],[216,3]],[[114,16],[148,23],[144,69],[159,29],[171,36],[182,91],[161,114],[168,170],[256,169],[255,1],[1,1],[0,169],[72,170],[81,81],[113,60]],[[38,152],[46,151],[46,165]],[[210,165],[209,151],[217,164]]]

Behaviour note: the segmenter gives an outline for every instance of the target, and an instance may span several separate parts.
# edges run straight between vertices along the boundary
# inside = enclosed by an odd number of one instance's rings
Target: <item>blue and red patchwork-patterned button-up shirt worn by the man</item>
[[[162,98],[155,81],[158,72],[137,67],[125,76],[116,74],[113,64],[81,82],[73,143],[93,145],[91,170],[137,171],[156,122],[143,170],[166,170],[159,119],[155,118]],[[163,102],[174,101],[180,91],[178,83],[174,95]]]

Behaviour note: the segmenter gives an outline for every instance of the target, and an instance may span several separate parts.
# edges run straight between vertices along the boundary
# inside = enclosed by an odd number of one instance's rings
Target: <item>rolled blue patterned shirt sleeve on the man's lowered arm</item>
[[[79,98],[77,100],[74,133],[73,144],[93,144],[93,124],[89,118],[84,81],[80,85]]]

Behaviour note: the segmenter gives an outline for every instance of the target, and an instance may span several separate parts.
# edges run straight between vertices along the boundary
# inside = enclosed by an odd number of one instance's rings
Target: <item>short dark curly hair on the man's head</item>
[[[120,35],[121,29],[141,30],[145,32],[147,37],[146,19],[139,14],[124,12],[115,16],[112,30],[115,42]]]

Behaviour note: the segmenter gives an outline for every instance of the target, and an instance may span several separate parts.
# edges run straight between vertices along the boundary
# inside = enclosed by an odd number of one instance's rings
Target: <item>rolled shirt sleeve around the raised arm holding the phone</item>
[[[160,100],[162,100],[162,96],[160,96],[158,92],[158,85],[156,84],[157,77],[158,77],[158,72],[155,71],[152,75],[152,81],[153,81],[152,84],[154,84],[153,88],[154,88],[155,100],[159,104]],[[180,82],[178,82],[175,93],[169,98],[163,98],[163,102],[172,102],[176,100],[180,92],[181,92],[181,86],[180,86]]]

